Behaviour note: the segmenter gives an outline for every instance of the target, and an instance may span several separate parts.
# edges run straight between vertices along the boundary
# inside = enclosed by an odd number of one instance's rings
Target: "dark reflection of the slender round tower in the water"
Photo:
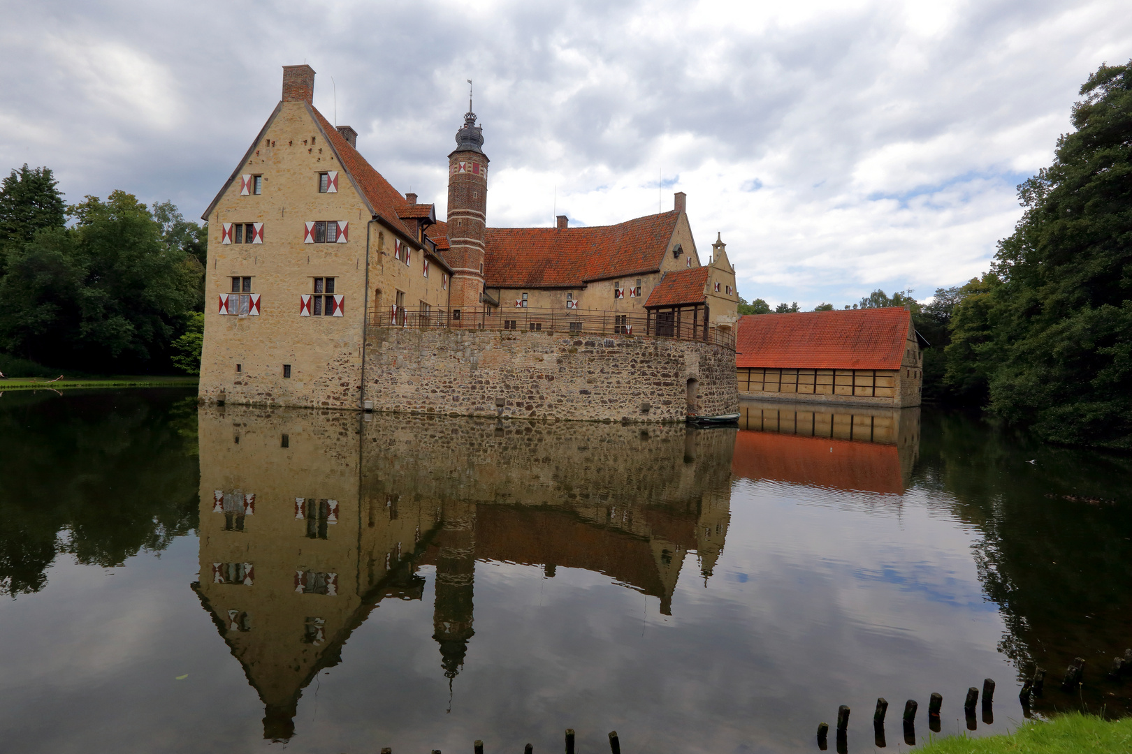
[[[475,578],[475,505],[449,503],[437,535],[436,604],[432,639],[440,644],[440,665],[452,679],[468,655],[472,631],[472,588]]]

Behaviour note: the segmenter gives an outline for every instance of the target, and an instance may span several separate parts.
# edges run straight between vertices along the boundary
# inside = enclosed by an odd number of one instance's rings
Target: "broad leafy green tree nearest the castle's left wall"
[[[114,191],[68,208],[15,251],[0,280],[0,348],[84,371],[161,367],[199,298],[199,262],[145,205]]]

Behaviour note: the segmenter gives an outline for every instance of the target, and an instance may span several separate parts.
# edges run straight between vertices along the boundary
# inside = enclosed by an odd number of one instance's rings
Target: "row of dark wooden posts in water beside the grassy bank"
[[[1061,688],[1064,692],[1074,692],[1081,687],[1084,679],[1086,661],[1073,658],[1065,669]],[[1122,657],[1113,658],[1105,677],[1109,681],[1120,681],[1125,676],[1132,676],[1132,649],[1124,650]],[[1022,713],[1030,717],[1030,700],[1040,697],[1046,682],[1045,668],[1035,668],[1034,676],[1022,682],[1022,690],[1018,694],[1018,700],[1022,703]],[[983,682],[983,723],[994,722],[994,681],[986,678]],[[978,725],[975,718],[975,708],[979,705],[979,690],[971,686],[967,690],[967,699],[963,701],[963,713],[967,718],[967,729],[975,730]],[[909,746],[916,745],[916,710],[919,704],[914,699],[904,702],[904,743]],[[940,733],[940,709],[943,707],[943,696],[933,693],[927,704],[927,725],[933,733]],[[884,739],[884,716],[889,711],[889,702],[882,696],[876,700],[876,711],[873,712],[873,735],[877,748],[886,745]],[[838,754],[847,754],[849,751],[849,708],[842,704],[838,708],[837,727],[837,751]],[[830,725],[822,722],[817,726],[817,748],[826,751],[829,748]],[[480,754],[479,752],[477,754]],[[530,753],[528,753],[530,754]]]

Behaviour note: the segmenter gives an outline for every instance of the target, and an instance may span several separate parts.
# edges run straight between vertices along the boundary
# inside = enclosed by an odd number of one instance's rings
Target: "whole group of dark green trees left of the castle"
[[[51,168],[0,185],[0,371],[196,374],[207,226],[112,191],[68,205]]]

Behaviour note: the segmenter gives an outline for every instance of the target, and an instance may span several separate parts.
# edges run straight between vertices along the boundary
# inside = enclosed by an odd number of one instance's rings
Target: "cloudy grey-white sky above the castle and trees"
[[[0,170],[68,200],[204,211],[280,98],[359,131],[444,215],[475,83],[492,225],[688,214],[740,294],[857,301],[986,269],[1077,92],[1132,58],[1126,0],[318,2],[0,0]],[[336,95],[335,95],[336,92]],[[336,112],[336,115],[335,115]],[[659,185],[658,185],[659,180]]]

